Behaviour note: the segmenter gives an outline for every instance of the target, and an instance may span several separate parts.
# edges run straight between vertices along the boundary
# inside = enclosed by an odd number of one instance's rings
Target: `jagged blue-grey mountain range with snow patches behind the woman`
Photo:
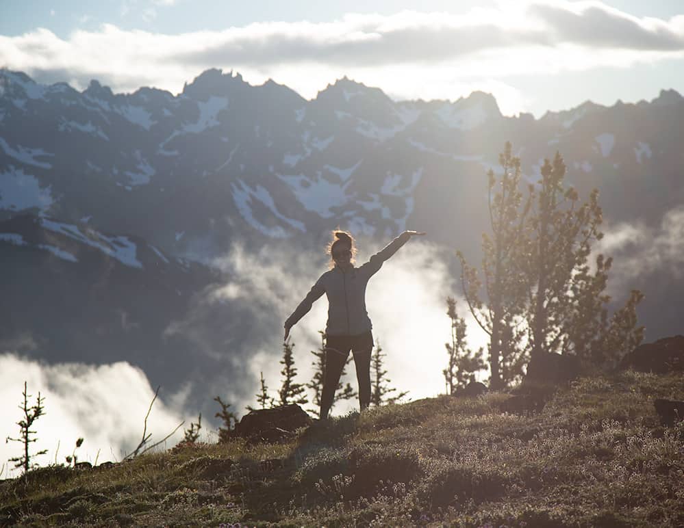
[[[97,81],[79,92],[0,70],[0,349],[125,358],[176,386],[188,373],[228,375],[252,391],[246,366],[227,367],[220,351],[266,324],[279,332],[287,314],[227,302],[198,321],[203,295],[235,278],[221,256],[320,253],[340,226],[375,246],[425,230],[477,261],[485,172],[506,141],[531,183],[558,150],[580,196],[599,189],[605,247],[629,263],[616,266],[620,285],[646,293],[647,338],[679,333],[683,122],[674,90],[535,119],[503,116],[483,92],[393,101],[346,78],[308,101],[216,69],[177,95]],[[201,365],[200,346],[216,352]]]

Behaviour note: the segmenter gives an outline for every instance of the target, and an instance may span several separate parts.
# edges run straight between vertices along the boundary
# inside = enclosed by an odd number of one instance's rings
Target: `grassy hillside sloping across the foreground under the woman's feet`
[[[0,525],[684,526],[680,376],[585,378],[542,412],[509,395],[350,414],[285,445],[244,440],[0,483]]]

